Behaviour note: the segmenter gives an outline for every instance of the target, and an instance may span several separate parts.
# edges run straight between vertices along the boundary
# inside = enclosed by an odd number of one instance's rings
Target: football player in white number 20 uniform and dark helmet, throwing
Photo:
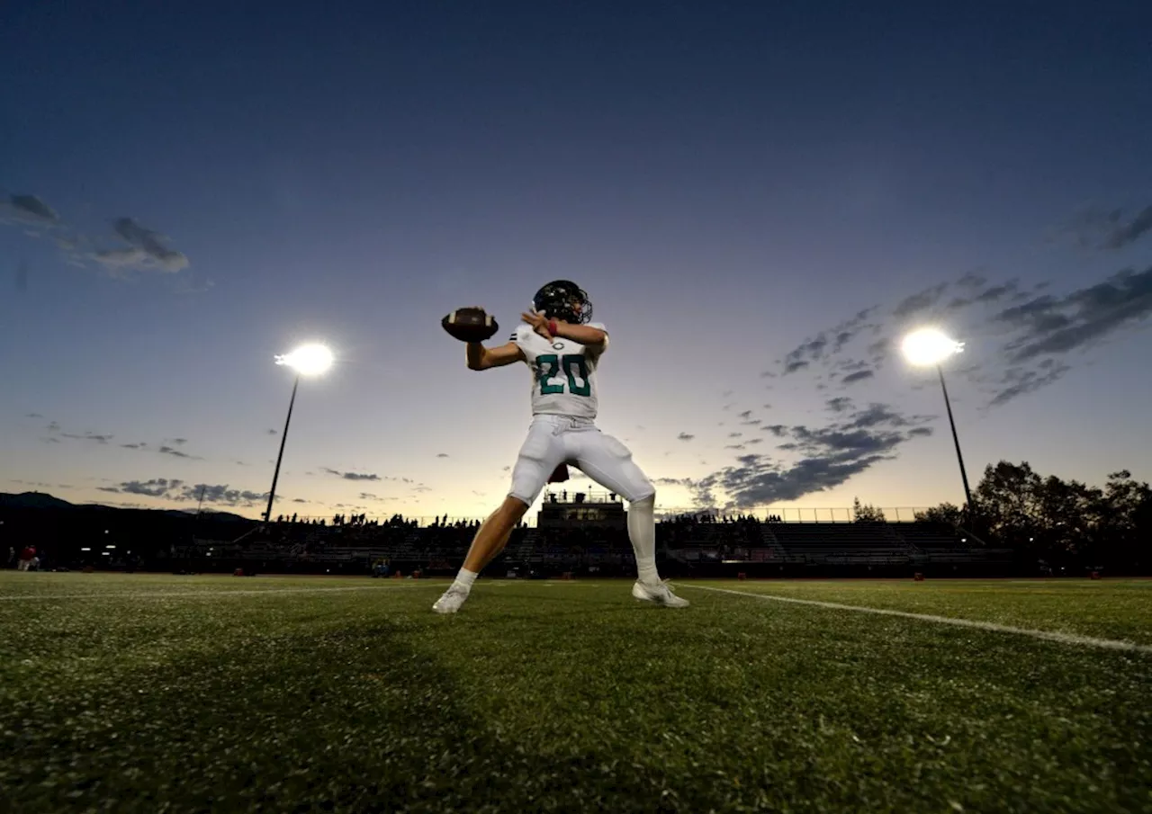
[[[596,426],[596,368],[608,348],[608,332],[591,322],[592,303],[574,282],[555,280],[536,292],[532,311],[507,344],[467,345],[468,367],[486,371],[517,362],[532,373],[532,423],[511,473],[503,503],[480,525],[455,581],[432,609],[454,614],[468,599],[477,575],[508,542],[511,530],[536,501],[550,476],[571,464],[604,488],[628,501],[628,537],[636,554],[632,596],[668,608],[683,608],[655,570],[655,488],[632,454]]]

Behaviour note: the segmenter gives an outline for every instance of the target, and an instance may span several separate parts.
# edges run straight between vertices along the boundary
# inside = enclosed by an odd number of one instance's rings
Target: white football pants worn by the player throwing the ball
[[[655,494],[628,447],[605,435],[590,418],[539,414],[511,471],[511,497],[531,505],[560,464],[571,464],[629,503]]]

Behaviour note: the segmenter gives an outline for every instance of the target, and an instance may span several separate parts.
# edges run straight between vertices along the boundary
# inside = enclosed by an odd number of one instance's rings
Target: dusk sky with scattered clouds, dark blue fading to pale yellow
[[[0,492],[483,517],[553,279],[661,512],[1152,480],[1152,7],[0,6]],[[505,334],[506,335],[506,334]],[[498,335],[502,338],[502,335]],[[578,472],[566,486],[582,489]]]

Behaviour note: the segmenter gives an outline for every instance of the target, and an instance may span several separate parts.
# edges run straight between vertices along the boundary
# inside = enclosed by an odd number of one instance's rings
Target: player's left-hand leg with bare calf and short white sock
[[[513,528],[540,494],[548,476],[563,459],[563,442],[555,432],[556,427],[548,419],[537,419],[529,427],[528,438],[520,449],[516,466],[513,467],[511,489],[500,508],[476,531],[455,581],[432,606],[437,613],[453,614],[460,609],[472,589],[472,583],[507,545]]]

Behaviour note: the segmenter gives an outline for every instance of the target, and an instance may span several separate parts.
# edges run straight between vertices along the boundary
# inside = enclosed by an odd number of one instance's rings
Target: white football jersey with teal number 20
[[[590,328],[607,329],[599,322]],[[532,414],[596,418],[596,366],[604,349],[589,350],[578,342],[553,337],[550,343],[530,325],[511,335],[532,371]]]

